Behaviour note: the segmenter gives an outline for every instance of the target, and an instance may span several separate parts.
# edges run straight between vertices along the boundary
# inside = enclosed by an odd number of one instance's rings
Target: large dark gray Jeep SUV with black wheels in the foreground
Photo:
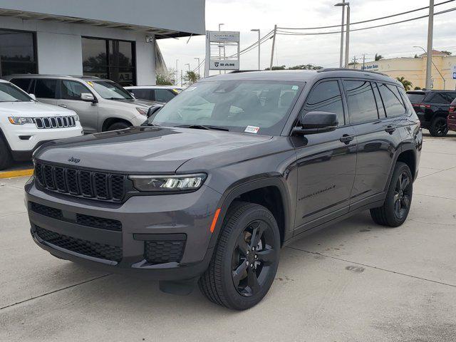
[[[38,149],[31,235],[61,259],[180,294],[198,281],[248,309],[295,239],[366,209],[403,224],[422,141],[402,85],[378,73],[204,78],[140,127]]]

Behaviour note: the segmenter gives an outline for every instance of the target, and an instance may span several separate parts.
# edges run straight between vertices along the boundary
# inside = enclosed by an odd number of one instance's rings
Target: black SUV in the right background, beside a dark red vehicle
[[[420,119],[421,127],[427,128],[432,137],[447,135],[450,103],[455,100],[456,91],[413,90],[408,91],[407,96]]]

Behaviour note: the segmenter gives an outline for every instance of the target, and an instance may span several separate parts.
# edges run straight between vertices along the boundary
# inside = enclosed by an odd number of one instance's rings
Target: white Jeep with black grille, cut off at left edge
[[[83,135],[73,110],[39,103],[14,84],[0,80],[0,170],[13,160],[30,160],[44,142]]]

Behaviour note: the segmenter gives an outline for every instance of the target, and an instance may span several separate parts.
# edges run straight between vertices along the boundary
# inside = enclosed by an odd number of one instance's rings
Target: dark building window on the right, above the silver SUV
[[[82,38],[83,74],[108,78],[121,86],[135,86],[135,43]]]

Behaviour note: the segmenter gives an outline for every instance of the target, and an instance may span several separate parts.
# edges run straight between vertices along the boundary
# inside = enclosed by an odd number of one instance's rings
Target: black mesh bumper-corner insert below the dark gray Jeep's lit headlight
[[[144,257],[150,264],[180,262],[184,254],[185,241],[146,241]]]

